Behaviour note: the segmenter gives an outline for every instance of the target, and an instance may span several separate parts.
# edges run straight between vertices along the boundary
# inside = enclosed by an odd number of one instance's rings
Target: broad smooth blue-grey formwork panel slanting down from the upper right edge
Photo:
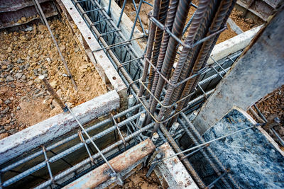
[[[193,124],[203,134],[236,105],[247,110],[284,84],[283,6],[259,31],[202,106]]]

